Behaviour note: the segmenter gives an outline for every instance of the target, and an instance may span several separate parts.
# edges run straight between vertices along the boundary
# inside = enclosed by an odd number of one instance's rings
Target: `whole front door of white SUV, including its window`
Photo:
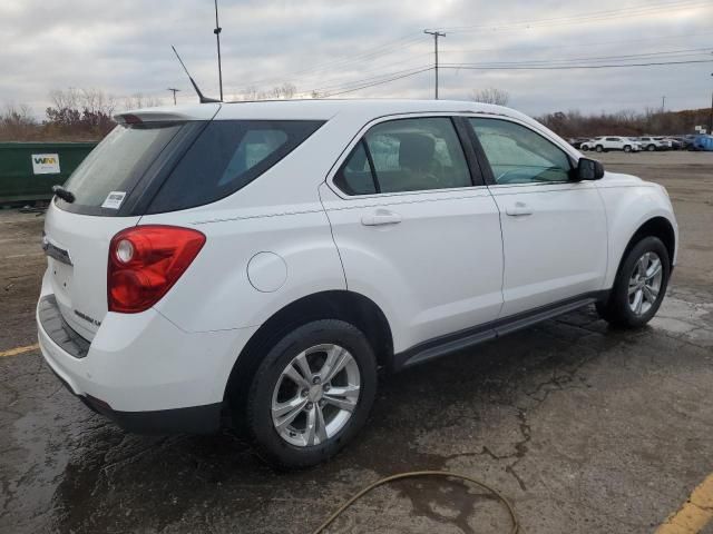
[[[528,125],[486,117],[468,122],[500,210],[500,316],[602,289],[607,222],[594,182],[570,181],[572,156]]]

